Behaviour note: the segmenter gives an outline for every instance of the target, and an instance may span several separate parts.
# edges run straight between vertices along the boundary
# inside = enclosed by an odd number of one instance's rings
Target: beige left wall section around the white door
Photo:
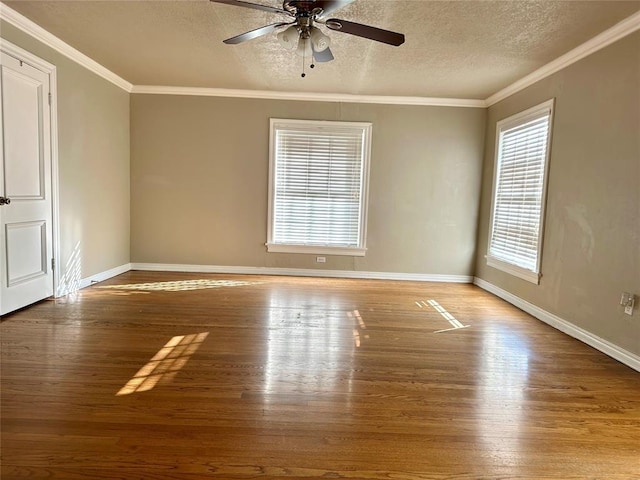
[[[57,67],[63,281],[129,263],[129,94],[10,24],[0,28]]]

